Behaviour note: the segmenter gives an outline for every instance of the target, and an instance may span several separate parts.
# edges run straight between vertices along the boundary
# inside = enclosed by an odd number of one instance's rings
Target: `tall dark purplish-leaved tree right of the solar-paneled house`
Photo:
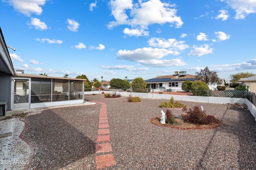
[[[208,84],[209,82],[220,82],[220,78],[216,71],[210,71],[208,67],[201,69],[200,72],[195,73],[194,81],[202,81]]]

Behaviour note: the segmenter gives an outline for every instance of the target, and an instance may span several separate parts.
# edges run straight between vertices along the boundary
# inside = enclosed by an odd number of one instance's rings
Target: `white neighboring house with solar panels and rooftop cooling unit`
[[[145,80],[147,88],[159,89],[165,87],[166,89],[172,89],[172,91],[182,90],[182,83],[186,80],[193,81],[194,75],[187,74],[186,71],[175,72],[174,75],[159,76]]]

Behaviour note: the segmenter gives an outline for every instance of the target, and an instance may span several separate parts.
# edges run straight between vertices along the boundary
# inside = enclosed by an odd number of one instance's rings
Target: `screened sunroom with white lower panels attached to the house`
[[[12,77],[12,110],[84,103],[84,81],[33,74]]]

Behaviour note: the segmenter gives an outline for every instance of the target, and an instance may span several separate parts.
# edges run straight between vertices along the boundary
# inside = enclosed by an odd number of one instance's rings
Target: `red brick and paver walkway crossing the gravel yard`
[[[95,102],[95,101],[92,101]],[[105,103],[96,102],[101,104],[100,116],[99,116],[99,129],[96,143],[96,153],[111,152],[110,144],[110,131],[107,117],[107,105]],[[113,154],[103,154],[95,157],[96,169],[101,169],[109,166],[116,165]]]

